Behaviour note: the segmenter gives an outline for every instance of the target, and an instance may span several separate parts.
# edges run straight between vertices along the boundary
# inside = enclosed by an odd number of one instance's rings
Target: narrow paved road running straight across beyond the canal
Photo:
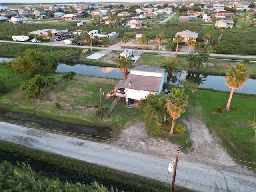
[[[79,48],[85,48],[90,50],[90,46],[78,46],[78,45],[69,45],[69,44],[64,44],[64,41],[58,41],[58,42],[49,42],[49,43],[34,43],[34,42],[16,42],[16,41],[3,41],[0,40],[0,42],[6,42],[6,43],[19,43],[19,44],[40,44],[42,46],[62,46],[62,47],[79,47]],[[99,49],[99,50],[117,50],[117,51],[124,51],[123,48],[114,48],[114,46],[110,47],[92,47],[93,49]],[[134,49],[134,52],[141,52],[141,49]],[[153,51],[153,50],[144,50],[144,52],[148,53],[158,53],[158,51]],[[175,51],[161,51],[160,53],[162,54],[175,54]],[[180,55],[187,55],[188,52],[178,52]],[[248,58],[250,59],[256,59],[256,56],[254,55],[231,55],[231,54],[210,54],[210,57],[222,57],[222,58],[237,58],[237,59],[243,59],[243,58]]]

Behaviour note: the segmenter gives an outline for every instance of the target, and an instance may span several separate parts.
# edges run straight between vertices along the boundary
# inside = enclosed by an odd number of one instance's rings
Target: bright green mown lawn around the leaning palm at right
[[[220,144],[230,156],[245,161],[237,163],[256,168],[255,132],[247,124],[247,120],[254,120],[256,97],[234,94],[230,111],[225,111],[224,114],[214,113],[214,108],[226,106],[228,97],[228,93],[197,90],[194,95],[190,94],[190,105],[202,108],[207,128],[220,138]],[[240,105],[242,109],[233,110],[236,105]]]

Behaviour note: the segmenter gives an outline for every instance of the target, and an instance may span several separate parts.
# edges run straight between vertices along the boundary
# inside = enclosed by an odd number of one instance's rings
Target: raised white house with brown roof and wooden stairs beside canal
[[[145,98],[150,93],[160,94],[167,74],[164,69],[152,66],[136,66],[130,69],[127,80],[120,81],[106,97],[116,95],[126,98],[127,104]]]

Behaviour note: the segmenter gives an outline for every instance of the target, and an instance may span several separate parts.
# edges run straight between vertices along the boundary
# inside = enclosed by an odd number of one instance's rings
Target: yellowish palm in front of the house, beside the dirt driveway
[[[186,106],[188,106],[188,96],[183,95],[184,91],[185,89],[180,91],[179,88],[172,88],[172,94],[170,94],[170,98],[167,99],[165,104],[167,112],[172,117],[172,127],[169,132],[170,135],[173,134],[175,120],[186,111]]]

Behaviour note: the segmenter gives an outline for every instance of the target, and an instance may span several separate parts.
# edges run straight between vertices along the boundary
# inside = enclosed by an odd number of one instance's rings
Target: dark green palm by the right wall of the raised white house
[[[167,81],[166,81],[166,88],[168,88],[170,84],[170,80],[174,75],[180,74],[182,69],[179,66],[180,62],[175,58],[166,58],[164,62],[161,64],[161,68],[165,69],[167,73]]]

